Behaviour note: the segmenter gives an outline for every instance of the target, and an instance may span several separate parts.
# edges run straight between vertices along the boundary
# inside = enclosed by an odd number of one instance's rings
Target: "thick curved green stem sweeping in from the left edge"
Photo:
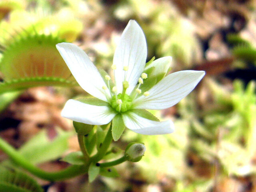
[[[87,165],[73,165],[59,172],[46,172],[41,170],[28,162],[26,158],[20,155],[12,146],[6,143],[2,138],[0,138],[0,149],[3,150],[10,159],[21,166],[22,168],[28,170],[30,173],[35,176],[42,178],[44,180],[56,181],[63,180],[67,178],[72,178],[74,176],[78,176],[82,173],[88,172],[88,164]]]

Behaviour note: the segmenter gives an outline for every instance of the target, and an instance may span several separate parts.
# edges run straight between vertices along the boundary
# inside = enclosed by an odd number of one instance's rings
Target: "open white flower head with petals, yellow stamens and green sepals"
[[[78,84],[95,97],[68,100],[61,115],[92,125],[108,124],[112,120],[114,140],[120,138],[125,127],[147,135],[173,132],[171,120],[160,122],[146,109],[160,110],[175,105],[205,74],[204,71],[186,70],[164,77],[166,62],[170,63],[171,57],[155,60],[145,68],[146,39],[134,20],[130,20],[124,29],[114,53],[114,83],[106,72],[97,70],[78,46],[60,43],[56,47]],[[164,63],[163,67],[161,63]]]

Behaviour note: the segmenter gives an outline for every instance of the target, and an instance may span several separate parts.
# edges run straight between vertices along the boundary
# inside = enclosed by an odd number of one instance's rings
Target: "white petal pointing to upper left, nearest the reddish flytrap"
[[[110,98],[109,90],[103,90],[106,86],[96,66],[87,54],[78,46],[71,43],[59,43],[56,48],[66,62],[78,84],[92,96],[107,101]]]

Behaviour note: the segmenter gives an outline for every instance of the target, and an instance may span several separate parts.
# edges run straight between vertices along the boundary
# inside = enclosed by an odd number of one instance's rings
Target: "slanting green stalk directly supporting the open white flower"
[[[94,156],[92,156],[91,162],[98,162],[105,156],[105,154],[112,142],[112,139],[113,139],[111,130],[112,130],[112,124],[110,124],[110,128],[108,129],[108,132],[106,134],[106,137],[105,137],[100,149]]]

